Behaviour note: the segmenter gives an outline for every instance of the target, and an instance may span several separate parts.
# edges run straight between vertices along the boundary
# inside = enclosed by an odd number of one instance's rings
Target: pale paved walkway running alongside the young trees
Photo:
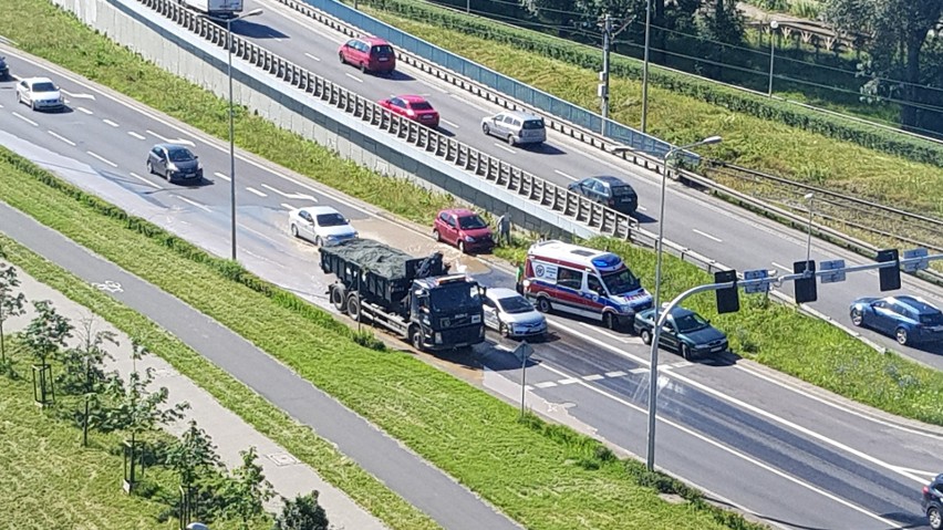
[[[110,367],[117,370],[125,378],[127,377],[127,374],[133,370],[131,337],[102,318],[94,315],[89,309],[38,282],[23,271],[18,270],[17,272],[21,280],[19,290],[25,294],[28,300],[50,300],[60,314],[72,321],[76,329],[73,332],[74,337],[71,343],[79,344],[80,336],[84,334],[85,322],[91,322],[93,334],[100,331],[115,333],[118,345],[107,344],[106,347],[115,357],[115,362],[111,363]],[[28,305],[32,310],[32,304]],[[30,311],[23,316],[10,319],[4,323],[4,330],[20,331],[27,326],[32,316],[32,311]],[[186,418],[167,426],[168,432],[179,435],[187,428],[190,419],[196,419],[199,427],[213,438],[213,443],[217,446],[217,453],[227,467],[232,468],[241,464],[240,450],[256,447],[259,454],[258,463],[261,464],[266,478],[279,496],[293,498],[298,493],[319,491],[319,501],[327,511],[328,519],[330,519],[333,528],[338,530],[382,530],[386,528],[351,500],[346,493],[321,479],[314,469],[300,463],[281,446],[225,408],[209,393],[183,376],[163,358],[148,355],[138,361],[137,368],[139,371],[147,367],[154,368],[154,386],[165,386],[169,391],[168,403],[186,402],[190,405]],[[280,508],[280,505],[281,500],[277,496],[269,501],[267,508],[270,511],[276,511]]]

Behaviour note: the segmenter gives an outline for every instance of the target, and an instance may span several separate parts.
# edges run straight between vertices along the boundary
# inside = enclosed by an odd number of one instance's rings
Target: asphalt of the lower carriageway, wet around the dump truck
[[[68,91],[65,113],[32,113],[0,84],[0,145],[136,215],[228,256],[227,145],[77,76],[4,50],[19,75],[49,75]],[[144,170],[155,142],[190,143],[208,176],[201,186],[167,185]],[[331,204],[364,237],[416,254],[438,248],[408,225],[239,154],[240,260],[260,277],[323,306],[329,281],[317,250],[287,233],[287,210]],[[0,227],[2,229],[2,227]],[[485,284],[510,276],[460,258]],[[103,278],[102,280],[105,280]],[[638,337],[551,316],[552,340],[536,344],[529,406],[644,455],[647,350]],[[515,401],[519,368],[491,341],[477,350],[483,386]],[[922,528],[919,491],[939,471],[943,429],[846,403],[743,360],[687,363],[663,354],[657,463],[722,502],[788,528]],[[367,467],[367,469],[370,469]],[[424,508],[425,509],[425,508]]]

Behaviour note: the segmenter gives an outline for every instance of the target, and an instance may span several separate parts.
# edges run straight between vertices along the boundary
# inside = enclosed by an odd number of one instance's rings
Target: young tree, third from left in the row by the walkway
[[[113,357],[105,344],[118,345],[115,334],[95,331],[93,318],[83,319],[79,330],[80,345],[66,350],[62,355],[62,374],[59,387],[69,394],[83,394],[84,407],[75,413],[82,426],[82,445],[89,445],[89,428],[94,417],[102,415],[101,395],[118,378],[116,372],[105,372],[105,361]]]

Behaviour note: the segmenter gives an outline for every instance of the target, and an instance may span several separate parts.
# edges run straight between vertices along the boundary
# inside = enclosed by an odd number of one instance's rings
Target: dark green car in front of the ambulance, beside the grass
[[[654,335],[654,309],[635,313],[635,333],[642,342],[652,343]],[[674,350],[682,357],[691,361],[712,353],[726,352],[727,335],[711,325],[711,321],[684,308],[674,308],[665,320],[665,326],[659,340],[660,346]]]

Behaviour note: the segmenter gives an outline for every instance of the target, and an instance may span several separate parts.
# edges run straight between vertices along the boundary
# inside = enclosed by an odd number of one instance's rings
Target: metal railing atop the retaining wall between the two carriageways
[[[175,1],[138,1],[209,42],[226,48],[227,33],[224,28],[209,22]],[[392,114],[373,101],[350,92],[235,34],[232,35],[232,54],[425,153],[501,186],[508,191],[563,217],[581,222],[601,235],[630,239],[638,229],[638,221],[625,214],[593,202],[412,119]]]

